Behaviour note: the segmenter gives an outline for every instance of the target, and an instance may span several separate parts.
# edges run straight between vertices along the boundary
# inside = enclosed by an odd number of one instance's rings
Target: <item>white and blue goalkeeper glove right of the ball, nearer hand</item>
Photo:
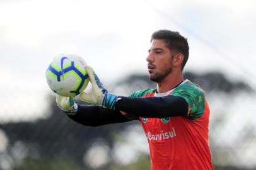
[[[115,102],[118,99],[118,96],[109,94],[107,89],[102,86],[102,82],[93,71],[93,68],[86,66],[90,82],[92,85],[92,90],[90,93],[82,92],[80,94],[80,99],[88,103],[93,103],[95,105],[102,105],[104,108],[115,109]]]

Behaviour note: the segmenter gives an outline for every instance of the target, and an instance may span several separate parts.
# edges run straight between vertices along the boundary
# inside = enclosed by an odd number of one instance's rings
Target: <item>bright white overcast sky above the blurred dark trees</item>
[[[185,71],[221,71],[254,86],[255,23],[249,0],[0,1],[0,120],[47,108],[45,69],[60,53],[81,55],[107,84],[147,74],[150,36],[160,29],[188,38]]]

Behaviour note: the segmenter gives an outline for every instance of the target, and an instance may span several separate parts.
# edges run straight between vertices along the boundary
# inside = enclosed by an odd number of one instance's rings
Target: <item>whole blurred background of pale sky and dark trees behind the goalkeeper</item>
[[[214,169],[256,169],[255,8],[250,0],[0,1],[0,169],[150,169],[139,122],[73,122],[44,74],[55,55],[69,53],[110,93],[155,88],[146,56],[160,29],[188,38],[184,77],[207,93]]]

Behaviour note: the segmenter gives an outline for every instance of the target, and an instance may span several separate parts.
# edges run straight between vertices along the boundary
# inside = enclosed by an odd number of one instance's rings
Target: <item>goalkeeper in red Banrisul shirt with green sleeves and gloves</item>
[[[202,88],[183,79],[188,58],[186,38],[175,31],[156,31],[146,58],[149,79],[156,82],[156,89],[136,91],[129,97],[110,94],[88,66],[93,89],[81,93],[80,98],[95,105],[79,105],[73,98],[58,95],[57,105],[86,126],[139,120],[148,139],[153,170],[213,169],[209,106]]]

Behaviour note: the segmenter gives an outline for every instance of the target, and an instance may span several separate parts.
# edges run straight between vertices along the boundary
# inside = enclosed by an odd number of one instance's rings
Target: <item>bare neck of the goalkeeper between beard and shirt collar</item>
[[[175,72],[172,72],[169,74],[163,81],[157,82],[157,92],[158,93],[165,93],[166,91],[170,91],[172,88],[180,84],[180,82],[184,81],[182,72],[179,74],[175,74]]]

